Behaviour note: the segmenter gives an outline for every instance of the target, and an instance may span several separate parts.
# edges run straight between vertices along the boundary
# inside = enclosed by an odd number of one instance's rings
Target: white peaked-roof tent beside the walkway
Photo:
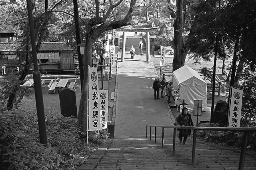
[[[173,88],[180,89],[180,99],[185,100],[185,107],[189,112],[193,112],[194,100],[203,100],[202,111],[206,111],[207,106],[207,83],[200,77],[197,71],[184,65],[173,73]]]

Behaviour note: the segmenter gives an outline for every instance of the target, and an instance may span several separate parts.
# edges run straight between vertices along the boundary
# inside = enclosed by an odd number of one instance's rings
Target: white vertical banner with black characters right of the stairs
[[[240,127],[243,90],[230,86],[228,127]]]

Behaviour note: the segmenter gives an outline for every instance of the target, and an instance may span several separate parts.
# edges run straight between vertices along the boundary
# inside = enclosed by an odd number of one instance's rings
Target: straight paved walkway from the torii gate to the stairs
[[[173,125],[165,98],[154,100],[152,85],[158,76],[153,62],[146,61],[146,54],[136,53],[134,59],[130,59],[130,53],[125,53],[124,62],[119,58],[116,76],[114,138],[144,136],[146,124]]]

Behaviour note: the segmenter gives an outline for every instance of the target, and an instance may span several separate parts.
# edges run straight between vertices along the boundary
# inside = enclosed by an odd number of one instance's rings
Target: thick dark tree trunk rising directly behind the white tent
[[[184,65],[185,59],[182,59],[182,46],[183,46],[183,5],[182,0],[176,1],[176,19],[174,21],[174,36],[173,36],[173,47],[174,57],[172,62],[172,72],[179,69]]]

